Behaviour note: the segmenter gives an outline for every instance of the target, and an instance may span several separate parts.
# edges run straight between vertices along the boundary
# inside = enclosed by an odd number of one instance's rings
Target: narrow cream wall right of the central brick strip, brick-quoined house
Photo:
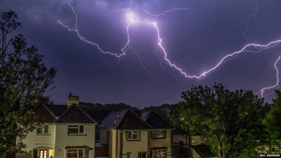
[[[155,129],[157,130],[157,129]],[[172,142],[172,130],[166,129],[166,138],[165,139],[150,139],[150,148],[155,148],[155,147],[167,147],[167,158],[172,157],[172,149],[171,149],[171,142]]]

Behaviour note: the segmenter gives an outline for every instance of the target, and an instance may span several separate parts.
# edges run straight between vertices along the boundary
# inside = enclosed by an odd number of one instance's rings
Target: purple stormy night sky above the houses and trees
[[[75,30],[69,4],[77,14],[79,34],[119,58],[101,52],[62,25]],[[278,42],[266,49],[249,46],[248,52],[230,56],[199,79],[185,77],[171,64],[189,76],[200,76],[247,44],[280,40],[280,0],[71,0],[69,4],[63,0],[1,0],[0,5],[1,12],[16,11],[22,22],[11,35],[23,34],[29,45],[38,46],[45,55],[45,64],[57,69],[56,88],[47,93],[56,104],[67,104],[72,92],[83,102],[124,102],[143,108],[181,101],[181,92],[192,83],[222,82],[231,90],[254,93],[277,83]],[[182,9],[171,10],[176,8]],[[125,47],[128,25],[130,42]],[[123,47],[126,55],[122,55]],[[271,102],[274,88],[279,86],[264,90],[266,101]]]

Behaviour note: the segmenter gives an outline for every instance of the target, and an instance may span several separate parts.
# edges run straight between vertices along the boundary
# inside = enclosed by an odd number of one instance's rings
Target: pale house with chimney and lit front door
[[[94,157],[97,122],[68,97],[68,105],[40,104],[34,109],[41,123],[22,140],[27,148],[16,158]]]

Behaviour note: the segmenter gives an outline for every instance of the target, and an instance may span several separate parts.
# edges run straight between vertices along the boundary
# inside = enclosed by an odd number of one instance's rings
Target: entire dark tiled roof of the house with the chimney
[[[45,105],[42,103],[33,111],[43,123],[97,123],[78,106],[67,108],[67,105]]]

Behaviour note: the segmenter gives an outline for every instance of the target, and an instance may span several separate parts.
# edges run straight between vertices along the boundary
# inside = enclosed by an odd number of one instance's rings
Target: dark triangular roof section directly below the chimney
[[[55,123],[97,123],[79,106],[70,106]]]

